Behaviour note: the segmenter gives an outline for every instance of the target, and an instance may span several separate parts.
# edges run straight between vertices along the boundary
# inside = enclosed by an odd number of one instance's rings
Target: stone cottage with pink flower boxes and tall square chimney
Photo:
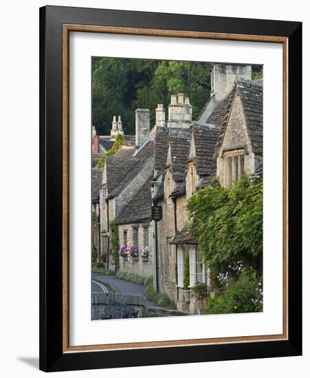
[[[118,224],[121,247],[135,246],[139,251],[143,247],[148,247],[148,259],[142,258],[141,251],[137,258],[121,256],[120,270],[144,276],[153,274],[150,241],[152,233],[148,223],[151,219],[150,188],[154,147],[150,140],[149,113],[148,109],[136,111],[135,146],[122,146],[115,155],[107,157],[102,173],[102,208],[100,209],[102,254],[107,267],[113,267],[109,256],[109,222],[115,220]],[[143,208],[139,211],[139,206],[146,203],[148,209]]]

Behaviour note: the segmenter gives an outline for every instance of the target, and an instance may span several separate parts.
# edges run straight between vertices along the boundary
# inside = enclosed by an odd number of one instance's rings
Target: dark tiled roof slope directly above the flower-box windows
[[[131,201],[127,203],[120,214],[116,217],[118,224],[140,223],[151,221],[152,216],[152,197],[151,197],[151,179],[148,178],[146,183],[135,193]]]

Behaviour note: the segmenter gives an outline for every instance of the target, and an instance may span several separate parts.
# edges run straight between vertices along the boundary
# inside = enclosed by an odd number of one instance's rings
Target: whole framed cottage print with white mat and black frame
[[[41,8],[41,370],[302,353],[301,46]]]

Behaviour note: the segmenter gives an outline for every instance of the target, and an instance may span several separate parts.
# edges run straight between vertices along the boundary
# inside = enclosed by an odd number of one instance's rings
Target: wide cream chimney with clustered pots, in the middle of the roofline
[[[168,127],[188,128],[192,123],[192,105],[188,97],[183,93],[171,95],[168,106]]]

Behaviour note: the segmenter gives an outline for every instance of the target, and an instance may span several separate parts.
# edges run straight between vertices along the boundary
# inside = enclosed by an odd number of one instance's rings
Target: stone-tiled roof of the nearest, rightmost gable
[[[252,150],[254,153],[263,155],[263,82],[236,78],[234,88],[228,98],[225,98],[227,102],[225,117],[221,124],[214,157],[217,157],[223,143],[234,96],[240,96]]]

